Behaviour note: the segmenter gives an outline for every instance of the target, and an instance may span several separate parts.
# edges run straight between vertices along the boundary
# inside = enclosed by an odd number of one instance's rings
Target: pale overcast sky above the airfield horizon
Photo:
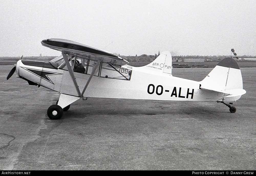
[[[57,56],[63,38],[120,55],[256,55],[256,1],[0,0],[0,56]]]

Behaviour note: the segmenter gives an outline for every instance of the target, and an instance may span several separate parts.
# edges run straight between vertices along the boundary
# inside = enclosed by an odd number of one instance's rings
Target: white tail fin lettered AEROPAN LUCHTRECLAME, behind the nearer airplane
[[[169,51],[164,51],[153,62],[142,67],[156,72],[172,74],[172,55]]]

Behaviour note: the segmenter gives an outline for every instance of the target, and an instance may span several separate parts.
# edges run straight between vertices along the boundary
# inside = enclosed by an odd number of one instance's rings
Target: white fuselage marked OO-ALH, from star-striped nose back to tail
[[[66,95],[79,96],[67,70],[24,65],[20,61],[17,63],[17,67],[16,71],[19,77]],[[31,69],[47,74],[40,77],[38,74],[32,73]],[[74,76],[79,90],[82,92],[90,75],[74,72]],[[198,81],[150,71],[143,67],[132,67],[130,80],[92,76],[83,97],[218,101],[223,97],[223,93],[202,90]]]

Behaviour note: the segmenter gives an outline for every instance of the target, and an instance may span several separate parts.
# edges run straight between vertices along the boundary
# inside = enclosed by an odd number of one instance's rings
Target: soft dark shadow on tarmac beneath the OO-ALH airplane
[[[92,98],[88,103],[76,102],[65,113],[65,118],[85,118],[90,115],[159,116],[169,118],[222,119],[232,118],[233,113],[215,102],[167,102],[152,100],[122,100]],[[104,103],[103,103],[104,101]],[[106,102],[107,101],[107,102]],[[94,108],[98,106],[98,108]],[[99,108],[100,107],[100,108]]]

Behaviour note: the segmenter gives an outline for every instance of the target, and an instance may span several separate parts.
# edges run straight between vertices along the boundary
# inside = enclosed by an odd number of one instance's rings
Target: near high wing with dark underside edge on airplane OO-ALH
[[[61,51],[62,53],[111,65],[122,66],[129,63],[123,58],[108,51],[100,50],[71,40],[45,39],[41,41],[41,44],[48,48]]]

